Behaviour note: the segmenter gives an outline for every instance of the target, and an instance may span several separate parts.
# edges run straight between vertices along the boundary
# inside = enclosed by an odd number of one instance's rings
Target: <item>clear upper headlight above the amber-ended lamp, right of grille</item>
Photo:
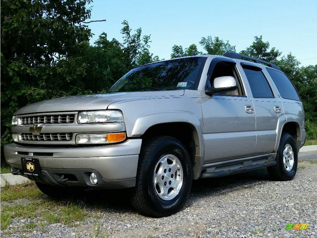
[[[123,114],[119,110],[85,111],[79,112],[78,123],[111,123],[124,122]]]

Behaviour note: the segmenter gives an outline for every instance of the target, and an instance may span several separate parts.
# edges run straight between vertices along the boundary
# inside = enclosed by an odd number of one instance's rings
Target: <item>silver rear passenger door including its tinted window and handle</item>
[[[256,116],[256,153],[273,152],[276,142],[277,122],[283,113],[282,103],[275,97],[268,79],[260,67],[241,63],[249,82]]]

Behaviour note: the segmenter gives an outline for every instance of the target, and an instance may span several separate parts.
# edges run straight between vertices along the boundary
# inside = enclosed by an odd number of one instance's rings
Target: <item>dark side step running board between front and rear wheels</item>
[[[215,178],[215,177],[222,177],[222,176],[227,176],[227,175],[233,175],[233,174],[238,174],[241,172],[246,172],[246,171],[251,171],[251,170],[256,170],[256,169],[261,169],[265,168],[268,166],[275,165],[276,161],[272,160],[266,163],[262,164],[254,164],[250,166],[245,166],[239,169],[230,169],[230,170],[222,170],[222,171],[217,171],[217,172],[202,172],[200,177],[201,178]]]

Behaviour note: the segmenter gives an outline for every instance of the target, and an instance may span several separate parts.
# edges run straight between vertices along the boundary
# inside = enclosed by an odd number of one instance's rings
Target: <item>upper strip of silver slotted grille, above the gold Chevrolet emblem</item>
[[[73,123],[75,114],[23,116],[19,118],[22,125],[39,123]]]

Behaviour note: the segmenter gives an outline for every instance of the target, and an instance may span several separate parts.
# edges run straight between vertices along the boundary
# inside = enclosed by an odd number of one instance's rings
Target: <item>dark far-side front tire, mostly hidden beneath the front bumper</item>
[[[71,197],[71,196],[80,196],[85,188],[83,187],[63,187],[63,186],[54,186],[49,184],[44,184],[40,182],[35,182],[38,189],[42,193],[50,197]]]

